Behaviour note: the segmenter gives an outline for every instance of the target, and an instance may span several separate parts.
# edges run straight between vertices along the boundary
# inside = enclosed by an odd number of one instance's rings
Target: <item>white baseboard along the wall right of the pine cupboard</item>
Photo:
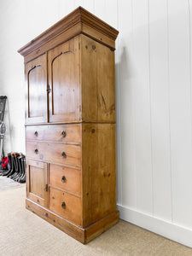
[[[136,224],[143,229],[150,230],[160,236],[165,236],[172,241],[192,247],[192,230],[178,224],[172,224],[160,218],[154,218],[143,212],[137,212],[129,207],[117,205],[119,218]]]

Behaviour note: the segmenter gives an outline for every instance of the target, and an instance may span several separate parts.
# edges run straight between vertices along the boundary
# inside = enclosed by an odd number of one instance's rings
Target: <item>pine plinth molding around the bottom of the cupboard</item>
[[[101,235],[106,230],[110,229],[114,224],[119,222],[119,211],[112,212],[107,217],[102,218],[95,224],[91,224],[85,229],[67,221],[65,218],[61,218],[54,212],[50,212],[48,209],[39,206],[33,201],[26,199],[26,209],[36,213],[39,217],[44,218],[50,224],[53,224],[58,229],[72,236],[74,239],[86,244],[94,239],[96,236]]]

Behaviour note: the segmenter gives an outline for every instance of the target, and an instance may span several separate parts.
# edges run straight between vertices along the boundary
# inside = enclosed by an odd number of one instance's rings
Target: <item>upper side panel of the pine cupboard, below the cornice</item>
[[[81,38],[82,115],[86,122],[115,122],[114,52]]]

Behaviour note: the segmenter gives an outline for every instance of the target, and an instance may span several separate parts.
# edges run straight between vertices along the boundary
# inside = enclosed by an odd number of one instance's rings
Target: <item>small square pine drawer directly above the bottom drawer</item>
[[[65,166],[49,165],[49,184],[70,192],[81,195],[81,172]]]

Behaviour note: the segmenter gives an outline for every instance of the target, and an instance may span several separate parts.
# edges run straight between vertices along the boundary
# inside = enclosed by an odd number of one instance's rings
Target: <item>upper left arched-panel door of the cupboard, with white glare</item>
[[[47,122],[47,55],[26,64],[26,123]]]

